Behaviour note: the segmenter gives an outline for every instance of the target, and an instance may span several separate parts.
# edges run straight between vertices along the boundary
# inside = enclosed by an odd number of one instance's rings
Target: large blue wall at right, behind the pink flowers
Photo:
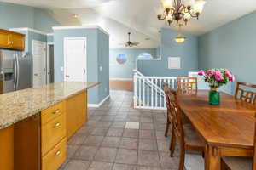
[[[256,12],[199,37],[199,68],[228,68],[241,82],[256,83]],[[234,84],[226,87],[234,92]]]

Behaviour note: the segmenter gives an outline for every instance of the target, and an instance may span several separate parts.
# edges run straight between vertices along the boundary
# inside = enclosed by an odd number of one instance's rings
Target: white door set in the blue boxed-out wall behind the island
[[[64,38],[64,81],[86,82],[86,38]]]

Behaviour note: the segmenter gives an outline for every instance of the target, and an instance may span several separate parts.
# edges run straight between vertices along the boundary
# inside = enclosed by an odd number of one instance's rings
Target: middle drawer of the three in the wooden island
[[[66,114],[62,113],[53,120],[41,127],[42,135],[42,156],[54,148],[61,139],[66,137]]]

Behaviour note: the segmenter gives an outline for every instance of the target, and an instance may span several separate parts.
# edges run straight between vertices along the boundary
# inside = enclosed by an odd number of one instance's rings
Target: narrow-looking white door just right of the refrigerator
[[[46,42],[32,41],[33,86],[46,83]]]

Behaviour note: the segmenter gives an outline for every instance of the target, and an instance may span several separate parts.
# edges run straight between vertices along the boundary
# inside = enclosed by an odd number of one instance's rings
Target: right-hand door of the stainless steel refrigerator
[[[31,88],[32,61],[25,52],[16,52],[17,82],[16,90]]]

